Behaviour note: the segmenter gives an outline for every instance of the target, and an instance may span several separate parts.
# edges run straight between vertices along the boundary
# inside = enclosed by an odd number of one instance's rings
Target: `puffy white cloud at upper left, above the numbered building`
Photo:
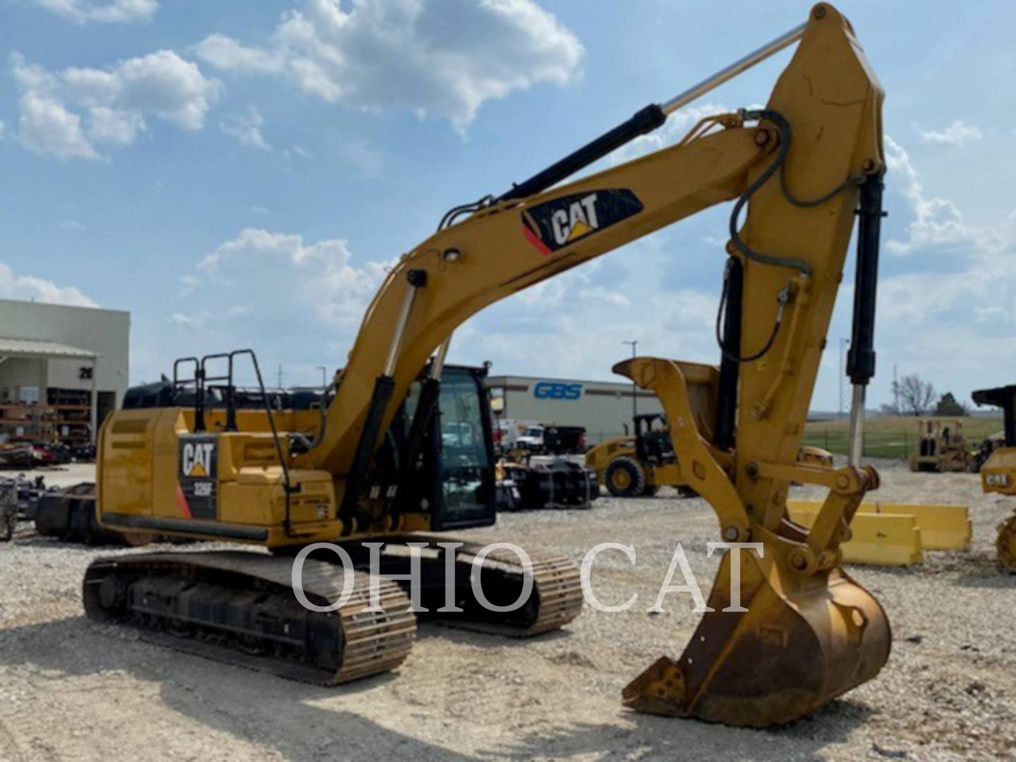
[[[120,61],[106,69],[51,72],[10,57],[18,99],[17,138],[60,158],[98,158],[101,145],[130,145],[155,116],[185,130],[204,126],[221,83],[173,51]]]

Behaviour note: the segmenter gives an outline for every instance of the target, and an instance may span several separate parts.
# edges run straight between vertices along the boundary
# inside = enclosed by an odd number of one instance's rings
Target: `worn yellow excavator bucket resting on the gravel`
[[[803,717],[871,680],[889,657],[885,612],[838,566],[805,576],[779,557],[744,552],[740,591],[747,611],[724,612],[728,552],[708,600],[714,611],[679,660],[660,657],[624,689],[625,705],[765,727]]]

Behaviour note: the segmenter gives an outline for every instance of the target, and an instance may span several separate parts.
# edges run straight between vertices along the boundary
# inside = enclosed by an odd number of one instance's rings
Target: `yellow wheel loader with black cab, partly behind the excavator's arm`
[[[674,487],[682,495],[694,496],[674,452],[666,416],[635,416],[632,429],[633,436],[612,437],[585,454],[585,464],[596,471],[599,484],[616,498],[652,497],[660,487]],[[798,462],[831,468],[833,457],[821,447],[802,445]]]

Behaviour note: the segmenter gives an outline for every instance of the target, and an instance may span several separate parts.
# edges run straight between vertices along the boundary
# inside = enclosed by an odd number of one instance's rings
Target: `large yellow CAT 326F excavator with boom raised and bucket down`
[[[765,108],[703,119],[675,145],[565,182],[799,41]],[[569,560],[532,554],[530,570],[506,549],[485,559],[475,544],[438,545],[442,535],[427,533],[492,521],[481,505],[489,494],[475,478],[484,465],[478,451],[463,446],[464,465],[449,479],[427,457],[443,403],[466,424],[483,425],[475,385],[441,381],[451,334],[497,300],[734,201],[719,368],[636,359],[626,372],[662,400],[690,483],[715,509],[722,541],[759,544],[758,551],[743,553],[733,590],[731,553],[738,551],[727,553],[711,610],[684,654],[652,664],[624,701],[640,711],[765,726],[873,678],[889,654],[889,625],[840,568],[838,546],[862,498],[878,486],[876,471],[860,463],[860,442],[875,366],[882,101],[849,22],[819,3],[805,23],[700,84],[642,109],[507,192],[452,208],[388,273],[319,421],[275,409],[267,394],[263,409],[231,403],[234,366],[255,360],[251,353],[184,363],[187,378],[193,370],[193,405],[123,409],[103,426],[98,521],[115,531],[271,553],[98,559],[83,582],[88,616],[206,656],[344,682],[395,668],[411,646],[416,619],[403,589],[381,580],[381,605],[371,607],[370,578],[360,569],[376,555],[382,571],[404,573],[414,543],[424,556],[423,602],[432,612],[446,604],[433,616],[516,635],[571,621],[581,593]],[[849,464],[803,465],[798,447],[854,218]],[[205,404],[215,379],[223,398]],[[463,441],[466,430],[458,427]],[[791,482],[829,490],[811,528],[787,518]],[[322,560],[328,551],[306,561],[307,601],[324,608],[348,593],[328,613],[299,605],[294,590],[291,556],[319,542],[345,549],[357,567],[346,577]],[[488,604],[507,607],[529,579],[524,605],[508,614],[481,606],[468,582],[473,561]],[[445,587],[448,568],[453,589]],[[738,593],[743,608],[732,607]]]

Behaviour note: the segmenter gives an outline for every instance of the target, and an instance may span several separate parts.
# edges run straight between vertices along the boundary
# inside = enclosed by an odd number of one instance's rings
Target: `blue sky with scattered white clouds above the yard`
[[[0,296],[130,310],[135,382],[241,345],[287,382],[314,382],[343,363],[385,264],[448,207],[505,190],[808,7],[0,0]],[[887,91],[871,399],[888,401],[894,365],[961,398],[1011,383],[1016,8],[838,7]],[[696,108],[764,102],[787,57]],[[495,305],[456,334],[452,360],[606,379],[637,338],[640,354],[715,362],[727,214]],[[848,298],[817,408],[837,406]]]

